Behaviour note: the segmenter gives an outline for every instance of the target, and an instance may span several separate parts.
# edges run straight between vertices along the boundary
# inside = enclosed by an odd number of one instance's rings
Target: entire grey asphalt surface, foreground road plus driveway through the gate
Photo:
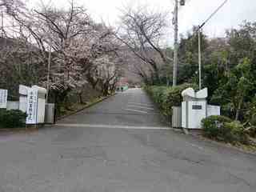
[[[256,155],[166,130],[128,90],[57,126],[0,135],[0,192],[12,191],[255,192]]]

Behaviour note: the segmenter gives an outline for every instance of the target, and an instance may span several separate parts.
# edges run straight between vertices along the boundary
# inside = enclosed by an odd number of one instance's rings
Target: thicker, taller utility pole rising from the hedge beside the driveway
[[[174,6],[174,73],[173,86],[177,86],[177,68],[178,68],[178,0],[175,0]]]

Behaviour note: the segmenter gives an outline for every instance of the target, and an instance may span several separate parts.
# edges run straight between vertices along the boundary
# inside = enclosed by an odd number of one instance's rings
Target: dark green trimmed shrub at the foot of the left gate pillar
[[[0,128],[18,128],[26,125],[26,113],[21,110],[0,110]]]

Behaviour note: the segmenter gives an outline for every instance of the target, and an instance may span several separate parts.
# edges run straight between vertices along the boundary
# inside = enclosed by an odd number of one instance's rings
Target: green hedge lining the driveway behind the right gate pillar
[[[162,114],[170,117],[172,114],[172,106],[182,105],[182,91],[192,87],[197,89],[194,84],[185,83],[180,86],[146,86],[145,90],[150,97],[156,102],[162,110]]]

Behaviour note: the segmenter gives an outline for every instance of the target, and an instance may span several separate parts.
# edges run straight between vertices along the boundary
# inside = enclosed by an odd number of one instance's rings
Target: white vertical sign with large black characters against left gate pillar
[[[26,124],[37,123],[38,112],[38,90],[28,89],[27,91],[27,110]]]

